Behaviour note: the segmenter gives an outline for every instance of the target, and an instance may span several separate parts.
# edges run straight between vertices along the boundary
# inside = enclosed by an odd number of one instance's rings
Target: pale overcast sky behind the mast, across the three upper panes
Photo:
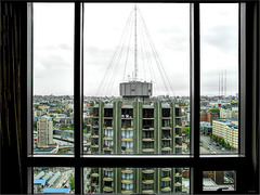
[[[134,55],[127,49],[112,58],[122,36],[132,3],[89,3],[84,8],[84,95],[119,95],[119,82],[132,78]],[[153,58],[148,65],[142,43],[138,42],[139,80],[153,81],[154,95],[188,95],[190,93],[190,4],[138,4],[164,66],[172,91],[165,88]],[[140,17],[138,16],[138,25]],[[141,28],[141,27],[140,27]],[[140,28],[139,34],[140,34]],[[129,27],[130,29],[130,27]],[[133,28],[132,28],[133,29]],[[138,41],[141,35],[138,34]],[[129,30],[130,37],[130,30]],[[238,91],[238,5],[202,4],[200,10],[202,94],[219,94],[219,74],[226,70],[227,94]],[[131,34],[133,47],[133,34]],[[126,43],[128,43],[126,37]],[[120,44],[121,46],[121,44]],[[119,61],[119,56],[121,56]],[[115,60],[115,58],[114,58]],[[127,63],[126,63],[127,62]],[[34,5],[34,94],[73,94],[74,4],[35,3]],[[116,68],[117,67],[117,68]],[[116,74],[117,70],[117,74]],[[125,78],[123,78],[123,73]],[[129,75],[129,77],[128,77]]]

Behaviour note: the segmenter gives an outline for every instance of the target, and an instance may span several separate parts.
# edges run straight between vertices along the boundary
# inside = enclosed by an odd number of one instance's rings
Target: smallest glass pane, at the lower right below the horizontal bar
[[[204,191],[235,191],[235,171],[204,171]]]

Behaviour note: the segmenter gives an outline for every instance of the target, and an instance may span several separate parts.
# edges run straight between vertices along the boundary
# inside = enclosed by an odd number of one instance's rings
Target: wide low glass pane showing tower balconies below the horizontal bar
[[[86,194],[188,194],[188,168],[84,168]]]

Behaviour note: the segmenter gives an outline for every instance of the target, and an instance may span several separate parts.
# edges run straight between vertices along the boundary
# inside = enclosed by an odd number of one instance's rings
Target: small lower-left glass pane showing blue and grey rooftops
[[[70,167],[35,167],[34,194],[74,194],[74,172]]]

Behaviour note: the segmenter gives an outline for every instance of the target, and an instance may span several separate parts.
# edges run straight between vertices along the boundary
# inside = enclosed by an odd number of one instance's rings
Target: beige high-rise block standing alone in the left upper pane
[[[38,147],[49,146],[53,144],[53,121],[48,119],[39,119],[37,121],[37,145]]]

